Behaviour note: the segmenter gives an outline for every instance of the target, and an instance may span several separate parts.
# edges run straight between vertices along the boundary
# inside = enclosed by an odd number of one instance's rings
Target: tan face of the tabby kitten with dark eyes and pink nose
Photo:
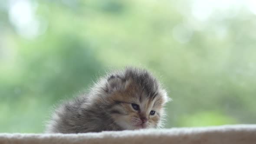
[[[148,96],[136,85],[126,85],[125,91],[114,92],[111,117],[123,129],[158,128],[164,113],[166,94],[159,90]]]

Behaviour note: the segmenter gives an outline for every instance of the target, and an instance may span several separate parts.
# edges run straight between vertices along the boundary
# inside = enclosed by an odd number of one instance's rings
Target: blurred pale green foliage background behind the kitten
[[[256,123],[256,2],[0,0],[0,132],[125,65],[164,83],[166,128]]]

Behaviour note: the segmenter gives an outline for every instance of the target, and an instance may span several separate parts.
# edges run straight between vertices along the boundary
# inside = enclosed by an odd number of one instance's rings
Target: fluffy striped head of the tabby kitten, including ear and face
[[[145,69],[126,68],[108,76],[109,115],[123,129],[159,128],[167,94]]]

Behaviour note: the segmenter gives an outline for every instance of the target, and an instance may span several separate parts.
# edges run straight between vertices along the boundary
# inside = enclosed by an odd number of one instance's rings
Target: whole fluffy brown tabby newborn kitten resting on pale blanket
[[[99,80],[88,94],[53,114],[49,133],[85,133],[160,128],[167,94],[145,69],[126,68]]]

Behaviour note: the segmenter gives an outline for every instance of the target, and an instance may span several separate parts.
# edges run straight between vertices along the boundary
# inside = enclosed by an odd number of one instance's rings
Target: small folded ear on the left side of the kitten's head
[[[128,80],[121,79],[118,76],[111,75],[108,78],[108,82],[106,84],[107,92],[113,92],[116,90],[125,90],[128,86]]]

